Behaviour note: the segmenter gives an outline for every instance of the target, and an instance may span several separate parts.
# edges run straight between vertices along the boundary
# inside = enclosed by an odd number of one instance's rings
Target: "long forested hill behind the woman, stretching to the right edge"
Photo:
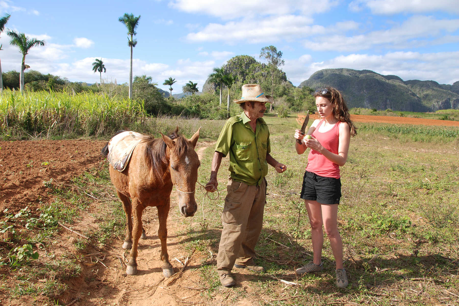
[[[403,81],[395,75],[341,68],[319,70],[299,85],[304,86],[312,89],[335,87],[343,93],[349,107],[423,112],[459,109],[459,81],[453,85]]]

